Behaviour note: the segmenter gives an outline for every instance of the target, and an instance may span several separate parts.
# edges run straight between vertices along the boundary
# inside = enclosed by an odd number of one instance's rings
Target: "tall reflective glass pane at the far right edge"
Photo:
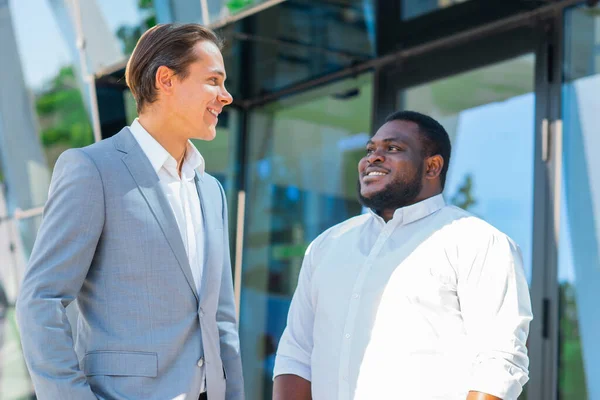
[[[559,239],[560,399],[600,398],[600,8],[565,14]]]

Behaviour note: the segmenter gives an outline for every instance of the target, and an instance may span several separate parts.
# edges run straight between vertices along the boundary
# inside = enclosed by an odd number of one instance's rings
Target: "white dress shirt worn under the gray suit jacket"
[[[137,118],[129,129],[158,175],[160,186],[177,220],[196,290],[200,293],[204,268],[204,226],[195,177],[196,170],[200,174],[204,173],[204,158],[196,147],[188,142],[180,177],[175,158],[144,129]],[[200,366],[200,368],[204,377],[204,367]],[[204,392],[204,378],[202,382],[201,391]]]

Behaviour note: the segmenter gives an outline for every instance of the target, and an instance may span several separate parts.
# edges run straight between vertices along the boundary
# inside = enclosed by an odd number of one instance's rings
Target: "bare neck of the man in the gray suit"
[[[156,117],[151,113],[141,114],[138,120],[150,136],[177,160],[177,169],[181,171],[188,142],[185,135],[181,133],[182,129],[173,126],[166,121],[166,118]]]

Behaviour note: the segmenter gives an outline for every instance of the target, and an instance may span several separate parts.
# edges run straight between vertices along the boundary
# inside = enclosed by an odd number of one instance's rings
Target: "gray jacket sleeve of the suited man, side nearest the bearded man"
[[[217,181],[223,204],[223,268],[221,289],[219,293],[219,308],[217,310],[217,325],[221,343],[221,360],[227,373],[227,400],[244,399],[244,378],[242,359],[240,356],[240,338],[235,312],[233,295],[233,278],[231,274],[231,256],[229,253],[229,224],[227,216],[227,200],[223,187]]]

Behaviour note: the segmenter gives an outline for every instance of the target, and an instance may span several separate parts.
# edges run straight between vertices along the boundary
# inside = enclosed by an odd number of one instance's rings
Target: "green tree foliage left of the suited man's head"
[[[44,147],[83,147],[93,142],[92,127],[77,87],[73,67],[60,69],[36,99]]]

